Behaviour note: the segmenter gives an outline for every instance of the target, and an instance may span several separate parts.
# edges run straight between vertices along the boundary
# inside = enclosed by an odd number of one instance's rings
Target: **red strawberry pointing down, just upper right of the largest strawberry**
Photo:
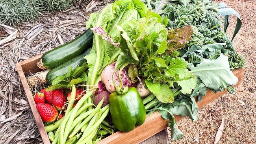
[[[63,92],[61,92],[61,90],[56,89],[52,91],[52,104],[54,107],[56,107],[57,110],[60,111],[65,102],[67,102],[67,98]]]

